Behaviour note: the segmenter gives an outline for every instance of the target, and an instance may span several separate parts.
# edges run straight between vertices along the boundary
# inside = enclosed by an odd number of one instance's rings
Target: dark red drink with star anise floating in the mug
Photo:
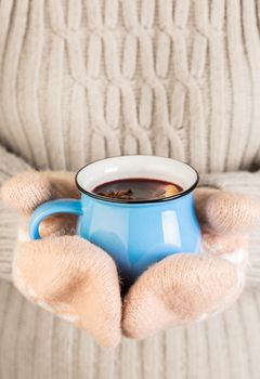
[[[157,179],[120,179],[98,185],[92,192],[96,195],[123,200],[152,200],[174,196],[183,188]]]

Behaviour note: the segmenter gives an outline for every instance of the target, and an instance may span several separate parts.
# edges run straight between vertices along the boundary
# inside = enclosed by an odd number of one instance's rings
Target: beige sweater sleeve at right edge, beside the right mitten
[[[260,171],[203,174],[199,185],[232,191],[260,200]],[[260,286],[260,227],[250,235],[249,262],[247,284],[250,287]]]

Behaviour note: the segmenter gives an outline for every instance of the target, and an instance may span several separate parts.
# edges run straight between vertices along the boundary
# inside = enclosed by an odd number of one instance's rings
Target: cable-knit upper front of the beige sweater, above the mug
[[[260,160],[255,0],[2,0],[0,141],[38,168]]]

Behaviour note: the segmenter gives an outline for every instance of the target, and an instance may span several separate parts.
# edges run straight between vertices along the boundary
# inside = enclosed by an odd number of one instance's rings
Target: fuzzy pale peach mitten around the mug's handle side
[[[113,259],[73,235],[73,215],[44,220],[40,234],[50,238],[31,241],[28,237],[31,211],[47,200],[62,197],[79,197],[74,174],[29,171],[4,183],[3,200],[23,218],[13,260],[14,284],[30,301],[75,322],[100,344],[116,345],[121,336],[121,299]]]

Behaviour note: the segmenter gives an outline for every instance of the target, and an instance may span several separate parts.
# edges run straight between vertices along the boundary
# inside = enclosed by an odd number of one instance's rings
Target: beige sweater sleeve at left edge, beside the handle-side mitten
[[[0,186],[15,173],[29,170],[22,158],[0,145]],[[0,198],[0,278],[11,280],[11,265],[17,232],[17,214]]]

